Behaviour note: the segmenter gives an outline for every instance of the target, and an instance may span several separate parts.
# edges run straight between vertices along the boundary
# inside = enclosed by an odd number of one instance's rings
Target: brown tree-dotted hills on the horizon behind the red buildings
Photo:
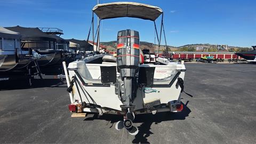
[[[101,44],[105,45],[109,51],[116,51],[116,41],[101,42]],[[187,44],[178,47],[167,45],[168,51],[196,51],[196,47],[203,47],[204,51],[217,51],[217,45],[214,44]],[[158,51],[158,45],[148,42],[140,42],[140,49],[149,49],[150,52],[154,52],[154,49],[155,51]],[[231,52],[250,50],[252,50],[250,47],[228,46],[228,51]],[[159,51],[165,51],[165,45],[161,45]]]

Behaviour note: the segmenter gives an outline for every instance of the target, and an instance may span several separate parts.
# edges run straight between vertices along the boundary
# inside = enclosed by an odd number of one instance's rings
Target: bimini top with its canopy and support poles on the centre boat
[[[93,20],[93,13],[97,14],[99,20],[99,25],[96,31],[96,34],[94,36],[94,20]],[[161,21],[161,30],[160,30],[160,37],[158,37],[157,28],[155,20],[162,14],[162,21]],[[97,50],[98,50],[98,43],[99,43],[99,26],[100,21],[103,19],[112,19],[112,18],[122,18],[122,17],[131,17],[131,18],[139,18],[139,19],[145,19],[145,20],[151,20],[154,21],[155,31],[157,35],[157,41],[158,41],[158,52],[159,53],[159,47],[161,45],[161,36],[162,31],[164,32],[164,25],[163,25],[163,10],[157,6],[147,5],[147,4],[141,4],[141,3],[134,3],[134,2],[115,2],[115,3],[105,3],[105,4],[98,4],[95,5],[92,9],[92,34],[93,34],[93,43],[94,40],[97,37]],[[87,37],[87,41],[89,41],[89,35]],[[164,32],[164,38],[165,38],[165,32]],[[167,51],[167,44],[166,44],[166,38],[165,38],[165,48]]]

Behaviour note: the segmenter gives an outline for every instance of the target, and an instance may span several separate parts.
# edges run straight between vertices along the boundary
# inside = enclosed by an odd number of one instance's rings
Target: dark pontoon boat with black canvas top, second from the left
[[[21,49],[33,49],[41,58],[38,59],[39,66],[54,65],[61,59],[61,51],[56,50],[56,38],[45,34],[39,28],[26,27],[5,27],[6,29],[16,31],[21,34]]]

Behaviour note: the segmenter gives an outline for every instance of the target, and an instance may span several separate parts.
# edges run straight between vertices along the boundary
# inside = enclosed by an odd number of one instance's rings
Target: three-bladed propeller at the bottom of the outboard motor
[[[132,125],[132,121],[134,120],[135,115],[134,113],[128,112],[126,116],[124,116],[124,121],[118,121],[115,125],[116,130],[121,130],[125,127],[125,129],[131,134],[136,135],[138,134],[139,130],[137,127]]]

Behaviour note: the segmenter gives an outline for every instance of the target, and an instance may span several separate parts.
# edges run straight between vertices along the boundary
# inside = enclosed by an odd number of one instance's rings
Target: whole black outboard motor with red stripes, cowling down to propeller
[[[118,97],[122,101],[122,111],[125,111],[124,121],[116,124],[116,129],[125,127],[130,134],[137,134],[137,127],[132,125],[134,119],[132,102],[136,97],[137,79],[140,65],[139,32],[135,30],[118,31],[117,36],[117,71]],[[137,75],[137,76],[136,76]]]

